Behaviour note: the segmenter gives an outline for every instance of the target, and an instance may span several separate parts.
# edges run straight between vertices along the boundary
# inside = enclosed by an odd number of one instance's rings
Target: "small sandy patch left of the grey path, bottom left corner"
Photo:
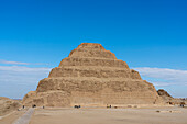
[[[9,115],[0,119],[0,124],[12,124],[15,120],[22,116],[25,111],[26,110],[11,112]]]

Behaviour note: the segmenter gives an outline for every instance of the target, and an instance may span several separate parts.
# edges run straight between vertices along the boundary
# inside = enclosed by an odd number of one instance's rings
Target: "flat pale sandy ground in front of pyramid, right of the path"
[[[30,124],[187,124],[187,109],[37,109]]]

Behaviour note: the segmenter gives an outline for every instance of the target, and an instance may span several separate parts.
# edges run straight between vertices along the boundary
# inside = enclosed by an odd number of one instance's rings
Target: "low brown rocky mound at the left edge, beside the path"
[[[21,108],[20,101],[0,97],[0,116],[18,110],[19,108]]]

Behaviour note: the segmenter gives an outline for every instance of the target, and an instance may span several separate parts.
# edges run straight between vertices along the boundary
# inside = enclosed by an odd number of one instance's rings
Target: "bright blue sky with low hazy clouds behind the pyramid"
[[[53,68],[80,43],[100,43],[143,79],[160,82],[157,89],[187,97],[186,5],[186,0],[1,0],[0,67]],[[169,79],[150,76],[144,67],[153,74],[163,69]],[[19,83],[3,79],[20,79],[11,71],[0,69],[0,95],[22,98],[47,76],[32,74],[35,82]]]

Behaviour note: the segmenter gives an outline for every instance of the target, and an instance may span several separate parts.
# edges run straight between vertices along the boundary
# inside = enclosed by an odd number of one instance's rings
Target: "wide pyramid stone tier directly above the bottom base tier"
[[[144,80],[130,80],[127,78],[45,78],[40,81],[37,92],[53,90],[61,91],[91,91],[96,92],[105,88],[113,91],[146,91],[154,90],[154,86]]]

